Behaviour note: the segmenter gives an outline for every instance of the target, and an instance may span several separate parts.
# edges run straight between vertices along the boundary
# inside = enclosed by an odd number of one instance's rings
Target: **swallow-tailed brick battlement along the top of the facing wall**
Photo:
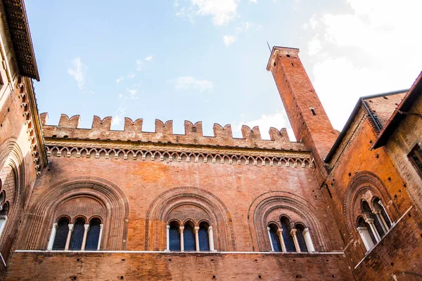
[[[252,129],[243,125],[241,132],[242,138],[234,138],[231,131],[231,125],[221,126],[214,124],[214,136],[203,136],[202,122],[185,121],[185,133],[173,133],[173,121],[162,122],[155,119],[155,132],[142,131],[143,119],[132,121],[130,118],[124,118],[123,131],[112,130],[112,117],[101,119],[94,116],[91,129],[79,128],[80,116],[68,117],[62,114],[58,126],[47,125],[48,114],[41,113],[41,124],[43,125],[45,138],[70,138],[82,140],[98,141],[132,141],[148,143],[173,143],[186,145],[216,145],[233,146],[238,148],[267,148],[277,150],[298,150],[305,151],[302,143],[291,142],[288,138],[287,130],[269,129],[270,140],[262,140],[258,126]]]

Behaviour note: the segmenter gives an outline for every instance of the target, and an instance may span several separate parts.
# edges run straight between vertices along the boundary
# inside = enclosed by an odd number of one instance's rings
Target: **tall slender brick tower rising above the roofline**
[[[298,53],[298,48],[275,46],[267,70],[276,81],[296,139],[312,150],[316,164],[321,168],[338,133],[333,129]]]

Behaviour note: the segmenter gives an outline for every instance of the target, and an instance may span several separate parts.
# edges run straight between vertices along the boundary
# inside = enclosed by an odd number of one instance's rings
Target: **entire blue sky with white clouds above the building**
[[[290,127],[267,72],[271,46],[300,58],[335,129],[359,96],[407,89],[422,70],[418,0],[26,0],[40,112]]]

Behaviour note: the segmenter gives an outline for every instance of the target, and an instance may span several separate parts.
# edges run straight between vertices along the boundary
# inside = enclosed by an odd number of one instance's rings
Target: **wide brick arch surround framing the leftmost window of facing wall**
[[[23,249],[46,249],[51,226],[58,216],[60,204],[76,197],[95,198],[105,210],[103,214],[102,249],[124,250],[127,241],[129,204],[120,188],[101,178],[87,177],[63,181],[51,186],[32,205],[25,223]]]

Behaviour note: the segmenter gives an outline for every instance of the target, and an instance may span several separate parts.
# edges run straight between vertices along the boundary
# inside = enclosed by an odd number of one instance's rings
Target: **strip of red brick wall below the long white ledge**
[[[25,266],[22,266],[25,264]],[[7,280],[353,280],[343,254],[15,253]]]

